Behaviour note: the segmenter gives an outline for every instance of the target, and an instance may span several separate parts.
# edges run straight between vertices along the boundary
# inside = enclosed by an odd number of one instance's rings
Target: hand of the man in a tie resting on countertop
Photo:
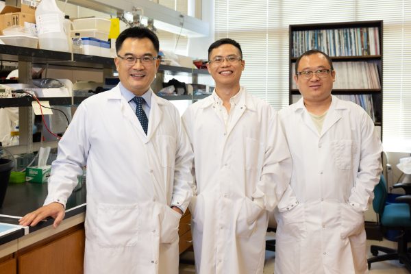
[[[18,223],[20,225],[30,225],[34,227],[38,222],[51,216],[54,219],[53,227],[56,228],[62,222],[65,213],[64,206],[61,203],[53,202],[25,214],[23,218],[18,220]]]

